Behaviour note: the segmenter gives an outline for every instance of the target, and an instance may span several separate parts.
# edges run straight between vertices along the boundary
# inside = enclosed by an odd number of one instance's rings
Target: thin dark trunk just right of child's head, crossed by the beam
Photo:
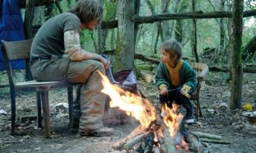
[[[192,0],[192,11],[195,11],[196,0]],[[195,55],[196,62],[199,62],[198,53],[197,53],[197,29],[196,29],[196,19],[193,18],[192,24],[192,34],[191,34],[191,48],[192,53]]]

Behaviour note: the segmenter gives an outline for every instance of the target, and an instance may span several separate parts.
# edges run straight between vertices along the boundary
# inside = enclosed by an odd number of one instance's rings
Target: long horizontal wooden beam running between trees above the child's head
[[[251,17],[256,15],[256,9],[244,11],[243,17]],[[136,24],[150,24],[153,22],[159,22],[163,20],[177,20],[177,19],[191,19],[191,18],[231,18],[231,11],[194,11],[194,12],[182,12],[182,13],[164,13],[159,15],[150,15],[146,17],[135,16],[134,22]],[[102,29],[110,29],[117,27],[117,20],[102,21]]]

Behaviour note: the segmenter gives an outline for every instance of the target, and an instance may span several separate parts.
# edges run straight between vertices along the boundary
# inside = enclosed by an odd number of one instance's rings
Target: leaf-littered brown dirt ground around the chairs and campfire
[[[203,117],[192,126],[190,131],[201,131],[221,135],[230,144],[208,143],[205,152],[256,152],[256,135],[245,133],[241,110],[220,110],[221,103],[230,104],[230,84],[225,83],[226,73],[208,73],[205,85],[200,92]],[[256,103],[256,74],[244,74],[242,103]],[[154,84],[139,80],[139,87],[145,96],[158,103],[158,91]],[[130,119],[127,124],[112,126],[115,133],[105,137],[81,137],[76,131],[68,128],[67,110],[58,109],[56,104],[67,103],[65,90],[49,93],[52,138],[44,138],[44,129],[37,129],[35,112],[35,94],[17,95],[17,128],[16,136],[10,136],[10,95],[8,91],[0,91],[0,110],[8,115],[0,115],[0,152],[120,152],[112,149],[115,142],[125,138],[138,126],[138,122]],[[254,110],[255,111],[255,110]],[[20,121],[31,116],[31,122]],[[124,150],[122,152],[125,152]]]

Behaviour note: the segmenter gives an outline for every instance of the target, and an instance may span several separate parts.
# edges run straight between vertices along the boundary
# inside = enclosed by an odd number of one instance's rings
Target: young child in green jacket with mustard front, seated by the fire
[[[167,103],[169,107],[173,101],[183,105],[187,111],[184,121],[188,124],[195,123],[189,93],[196,89],[196,73],[188,62],[182,60],[182,46],[178,41],[164,41],[161,61],[156,72],[161,103]]]

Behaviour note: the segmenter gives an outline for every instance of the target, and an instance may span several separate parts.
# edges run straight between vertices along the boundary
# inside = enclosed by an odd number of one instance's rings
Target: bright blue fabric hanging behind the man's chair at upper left
[[[2,42],[24,40],[23,20],[19,0],[2,0],[0,14],[0,71],[5,70]],[[24,69],[24,60],[11,61],[12,69]]]

